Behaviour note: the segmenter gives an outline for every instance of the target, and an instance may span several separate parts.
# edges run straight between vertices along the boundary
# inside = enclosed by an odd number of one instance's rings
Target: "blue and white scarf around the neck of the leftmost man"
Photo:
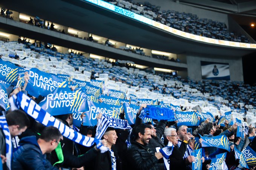
[[[11,161],[12,161],[12,138],[8,128],[8,124],[6,122],[5,116],[0,116],[0,128],[3,130],[5,134],[5,145],[6,145],[6,165],[9,169],[11,169]]]

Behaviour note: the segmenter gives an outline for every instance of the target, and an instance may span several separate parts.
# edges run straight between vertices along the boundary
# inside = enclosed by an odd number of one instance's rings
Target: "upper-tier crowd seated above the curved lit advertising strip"
[[[132,0],[106,1],[183,32],[207,38],[249,43],[249,39],[246,36],[230,32],[226,24],[219,21],[198,18],[195,14],[174,10],[161,11],[160,6],[152,5],[149,2],[135,3]]]

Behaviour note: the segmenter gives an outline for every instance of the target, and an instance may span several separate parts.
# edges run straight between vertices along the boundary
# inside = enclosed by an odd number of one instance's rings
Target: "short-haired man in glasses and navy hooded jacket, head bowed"
[[[35,136],[22,138],[19,142],[21,147],[13,155],[12,169],[57,170],[46,159],[45,153],[56,149],[61,138],[60,131],[54,126],[44,128],[38,140]]]

